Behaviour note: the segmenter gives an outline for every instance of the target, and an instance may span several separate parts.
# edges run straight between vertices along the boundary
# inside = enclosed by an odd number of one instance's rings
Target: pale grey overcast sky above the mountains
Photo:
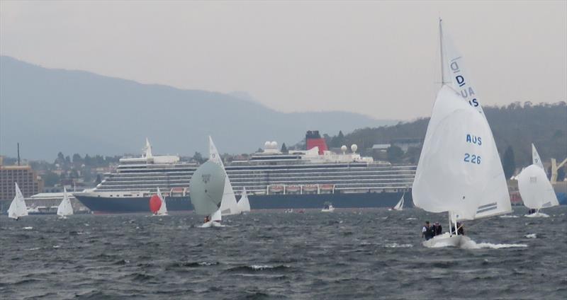
[[[567,1],[0,1],[0,53],[283,112],[430,115],[437,19],[485,104],[567,99]],[[0,66],[1,67],[1,66]]]

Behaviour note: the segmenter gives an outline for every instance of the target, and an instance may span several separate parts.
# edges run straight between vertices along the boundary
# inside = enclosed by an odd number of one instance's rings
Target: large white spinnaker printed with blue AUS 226
[[[442,86],[415,173],[415,206],[428,212],[451,212],[456,219],[510,212],[505,181],[499,186],[501,170],[485,117],[452,88]],[[489,214],[483,210],[486,202],[490,202]]]

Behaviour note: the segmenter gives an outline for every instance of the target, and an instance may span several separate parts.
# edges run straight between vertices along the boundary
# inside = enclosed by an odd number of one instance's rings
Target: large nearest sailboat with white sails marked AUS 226
[[[447,212],[457,221],[512,212],[498,149],[463,57],[443,34],[439,20],[442,87],[437,93],[412,186],[415,207]],[[451,230],[449,230],[451,231]],[[456,232],[435,236],[426,247],[465,246]]]

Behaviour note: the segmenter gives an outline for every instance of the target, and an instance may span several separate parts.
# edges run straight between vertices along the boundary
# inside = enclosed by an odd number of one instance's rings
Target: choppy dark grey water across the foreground
[[[447,217],[418,209],[2,216],[0,299],[566,299],[567,207],[546,213],[467,222],[472,250],[423,248]]]

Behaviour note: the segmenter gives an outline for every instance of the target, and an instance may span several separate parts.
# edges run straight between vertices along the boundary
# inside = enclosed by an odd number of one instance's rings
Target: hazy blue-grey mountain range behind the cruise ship
[[[356,113],[280,113],[242,92],[182,90],[0,57],[6,156],[16,155],[16,142],[28,159],[51,160],[58,151],[138,154],[145,137],[155,154],[192,155],[206,153],[208,134],[223,153],[252,153],[267,140],[296,144],[310,129],[336,134],[394,123]]]

